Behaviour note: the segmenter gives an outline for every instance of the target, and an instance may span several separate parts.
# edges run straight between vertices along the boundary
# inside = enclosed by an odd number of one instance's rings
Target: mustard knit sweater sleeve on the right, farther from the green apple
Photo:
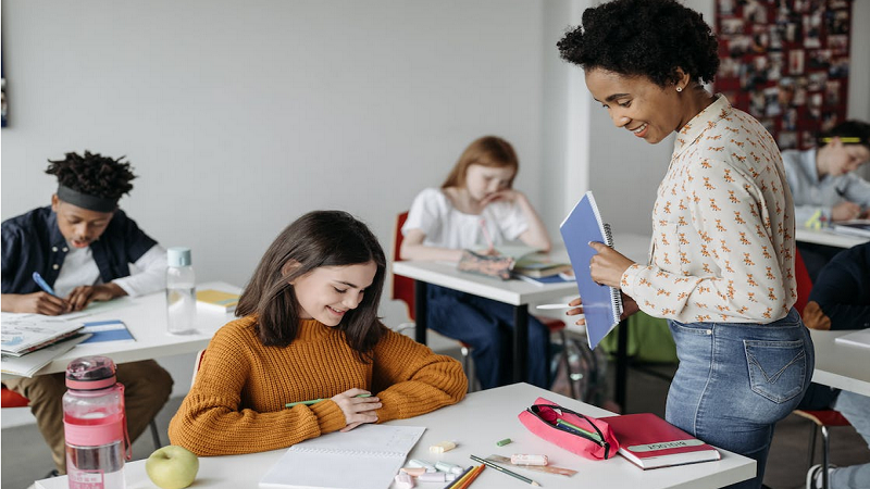
[[[450,356],[391,330],[375,347],[372,391],[383,404],[378,423],[456,404],[467,390],[462,364]]]

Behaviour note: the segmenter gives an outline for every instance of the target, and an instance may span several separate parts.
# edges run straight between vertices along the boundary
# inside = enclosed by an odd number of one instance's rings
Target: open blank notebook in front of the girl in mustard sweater
[[[425,429],[366,424],[296,443],[260,479],[260,487],[386,489]]]

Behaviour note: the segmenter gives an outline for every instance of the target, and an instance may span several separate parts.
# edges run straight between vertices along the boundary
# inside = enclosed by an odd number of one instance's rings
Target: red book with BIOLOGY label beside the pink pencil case
[[[619,453],[643,469],[720,460],[716,448],[652,413],[599,418],[613,428]]]

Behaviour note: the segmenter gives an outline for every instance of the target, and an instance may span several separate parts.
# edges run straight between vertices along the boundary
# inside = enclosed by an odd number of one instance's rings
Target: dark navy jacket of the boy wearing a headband
[[[58,216],[50,206],[3,221],[2,293],[38,292],[33,273],[39,272],[48,285],[61,273],[69,244],[58,227]],[[129,275],[135,263],[157,241],[139,229],[124,211],[115,211],[105,231],[90,243],[100,278],[108,284]]]

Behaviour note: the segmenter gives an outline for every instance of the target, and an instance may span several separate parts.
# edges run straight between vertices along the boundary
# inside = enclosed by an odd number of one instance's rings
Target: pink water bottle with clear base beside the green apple
[[[124,489],[130,459],[124,386],[107,356],[83,356],[66,366],[63,430],[70,489]]]

